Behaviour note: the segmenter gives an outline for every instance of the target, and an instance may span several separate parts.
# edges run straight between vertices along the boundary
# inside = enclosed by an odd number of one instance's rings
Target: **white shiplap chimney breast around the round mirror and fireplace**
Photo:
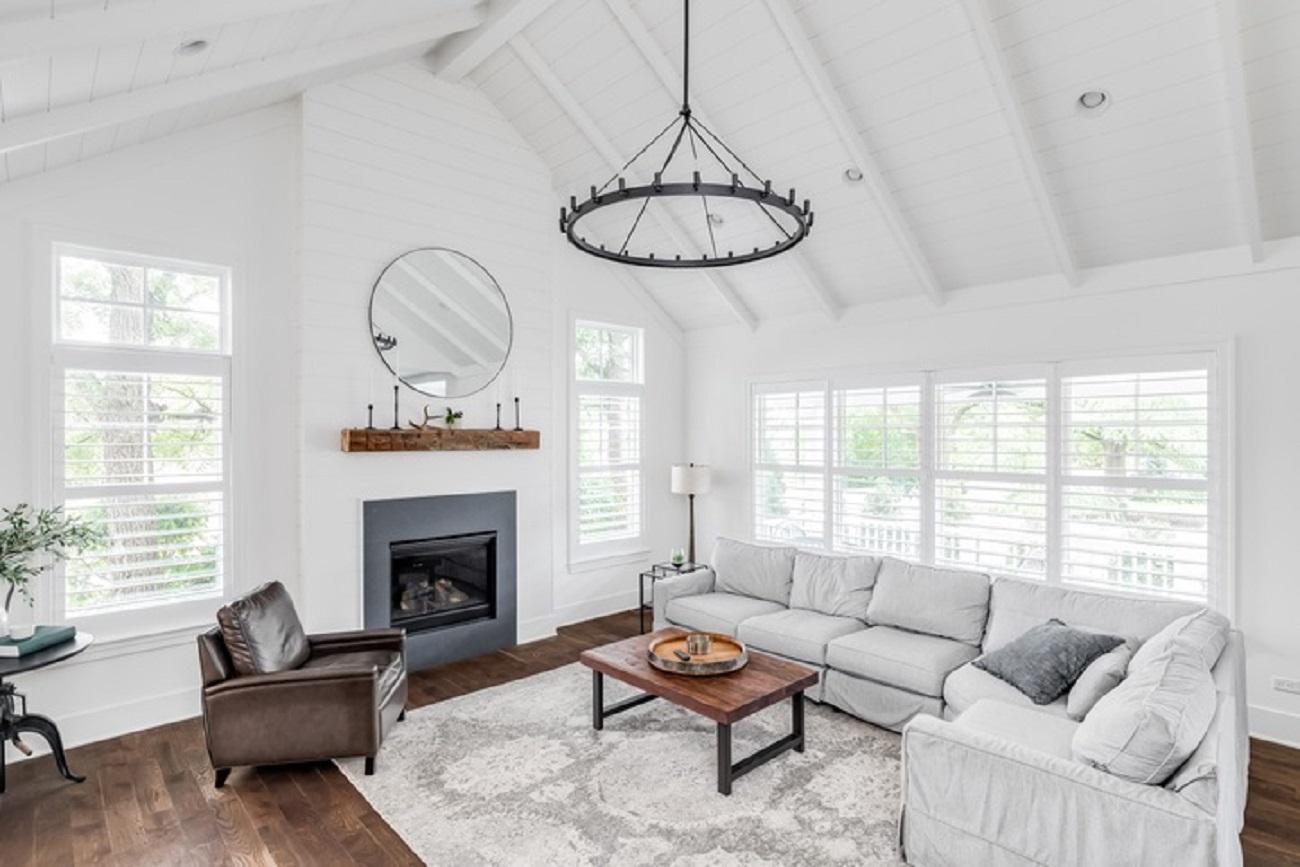
[[[556,446],[550,377],[555,201],[547,174],[506,120],[471,88],[416,65],[303,97],[302,563],[312,628],[360,623],[360,502],[519,491],[521,632],[551,610],[549,460]],[[347,455],[338,430],[391,424],[391,378],[367,339],[368,287],[412,247],[462,250],[500,282],[515,317],[506,382],[541,451]],[[507,403],[510,398],[506,398]],[[403,424],[426,402],[403,389]],[[438,407],[445,400],[436,402]],[[494,389],[452,402],[467,426],[490,426]]]

